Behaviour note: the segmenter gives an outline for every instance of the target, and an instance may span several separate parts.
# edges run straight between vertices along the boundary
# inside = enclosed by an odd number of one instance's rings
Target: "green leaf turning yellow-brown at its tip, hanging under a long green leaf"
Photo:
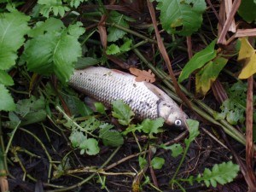
[[[209,61],[206,66],[201,68],[200,72],[195,75],[196,92],[206,95],[211,89],[212,83],[218,78],[218,74],[227,63],[227,59],[217,57],[213,61]]]

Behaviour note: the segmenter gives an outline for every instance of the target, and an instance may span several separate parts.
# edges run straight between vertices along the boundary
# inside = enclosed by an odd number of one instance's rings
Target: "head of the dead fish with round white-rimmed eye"
[[[167,125],[176,127],[187,128],[186,119],[188,115],[177,106],[175,102],[161,101],[159,103],[159,115],[165,119]]]

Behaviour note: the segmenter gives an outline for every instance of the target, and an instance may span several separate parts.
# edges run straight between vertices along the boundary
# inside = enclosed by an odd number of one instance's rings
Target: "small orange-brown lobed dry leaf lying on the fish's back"
[[[148,72],[145,70],[140,70],[134,67],[129,68],[131,74],[134,74],[137,82],[147,81],[149,83],[153,83],[155,81],[154,73],[149,69]]]

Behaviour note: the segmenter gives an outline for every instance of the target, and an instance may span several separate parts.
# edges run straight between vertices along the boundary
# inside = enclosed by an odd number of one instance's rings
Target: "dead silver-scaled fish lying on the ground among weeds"
[[[105,67],[75,70],[69,84],[76,90],[111,107],[122,100],[131,107],[137,119],[162,117],[166,124],[186,127],[187,115],[163,90],[148,82],[137,82],[130,73]]]

